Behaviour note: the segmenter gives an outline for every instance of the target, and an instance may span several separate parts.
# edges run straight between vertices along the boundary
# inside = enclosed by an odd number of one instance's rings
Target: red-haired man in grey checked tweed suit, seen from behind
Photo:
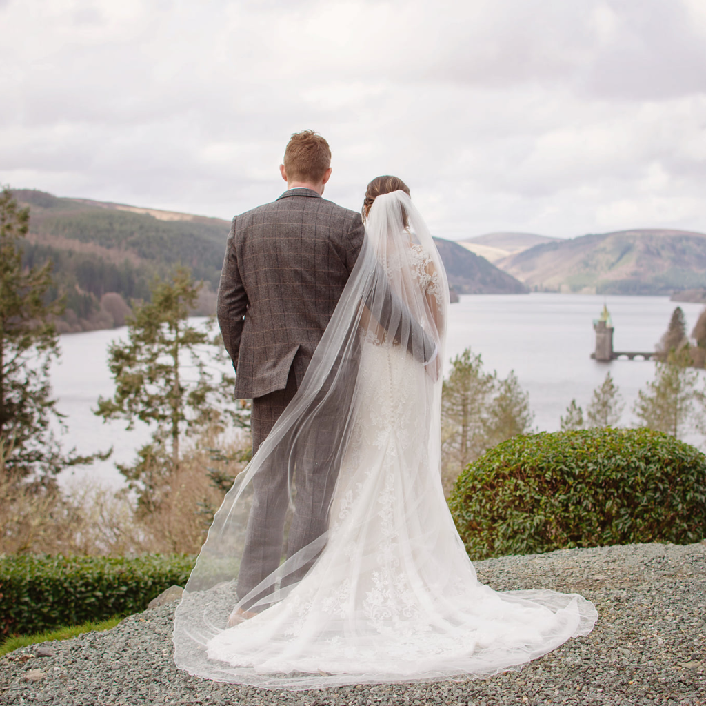
[[[253,400],[253,455],[297,392],[364,241],[360,214],[321,198],[330,161],[323,137],[311,130],[292,135],[280,165],[287,191],[234,217],[228,236],[217,316],[237,373],[235,397]],[[424,359],[431,359],[433,343],[411,325],[424,341]],[[328,508],[332,483],[322,476],[334,471],[313,465],[297,481],[287,556],[327,529],[326,510],[299,508]],[[288,501],[282,469],[263,468],[253,477],[239,599],[280,565]]]

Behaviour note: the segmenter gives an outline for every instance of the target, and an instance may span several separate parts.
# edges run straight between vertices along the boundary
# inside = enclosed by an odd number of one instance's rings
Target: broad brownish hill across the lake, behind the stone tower
[[[635,229],[535,245],[498,267],[539,292],[673,294],[706,286],[706,234]]]

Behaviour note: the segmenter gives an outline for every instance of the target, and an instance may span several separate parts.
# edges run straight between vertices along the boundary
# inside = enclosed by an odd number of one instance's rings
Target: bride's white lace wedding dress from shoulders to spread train
[[[369,232],[393,289],[443,350],[448,285],[408,197],[378,197]],[[351,422],[328,536],[312,551],[324,549],[286,590],[282,575],[274,578],[277,600],[233,628],[224,629],[232,584],[187,587],[175,659],[192,674],[289,689],[484,677],[592,630],[597,613],[578,594],[496,592],[478,582],[441,488],[434,363],[422,365],[374,317],[357,316]]]

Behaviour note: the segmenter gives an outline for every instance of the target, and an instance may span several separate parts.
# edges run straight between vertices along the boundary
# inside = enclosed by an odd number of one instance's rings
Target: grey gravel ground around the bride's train
[[[706,705],[706,542],[568,549],[476,566],[479,578],[498,590],[580,592],[597,606],[596,628],[519,673],[292,693],[203,681],[178,671],[172,662],[172,603],[130,616],[104,633],[1,657],[0,703]]]

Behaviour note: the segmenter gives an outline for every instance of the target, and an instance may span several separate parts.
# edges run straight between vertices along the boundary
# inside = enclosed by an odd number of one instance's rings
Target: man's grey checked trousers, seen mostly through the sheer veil
[[[277,419],[285,411],[297,392],[294,373],[289,371],[284,390],[253,399],[251,429],[253,455],[267,438]],[[325,390],[321,391],[321,395]],[[316,407],[316,405],[313,405]],[[339,460],[334,458],[336,431],[335,419],[326,409],[318,409],[305,424],[308,430],[306,448],[296,449],[301,460],[294,475],[294,514],[287,531],[286,556],[289,558],[320,537],[328,529],[328,508],[333,495]],[[292,438],[297,438],[296,429]],[[296,443],[293,441],[292,443]],[[282,561],[285,544],[285,518],[289,507],[289,459],[293,449],[282,443],[268,456],[254,475],[253,502],[248,517],[246,539],[238,573],[237,594],[244,598],[262,580],[277,570]],[[314,558],[315,559],[315,558]],[[296,572],[287,575],[282,585],[297,582],[311,568],[310,559]],[[248,609],[275,590],[268,586],[249,598],[242,606]]]

